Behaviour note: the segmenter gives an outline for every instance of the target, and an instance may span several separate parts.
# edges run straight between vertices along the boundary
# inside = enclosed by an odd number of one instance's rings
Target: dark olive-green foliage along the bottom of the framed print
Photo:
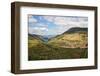
[[[28,49],[29,60],[87,58],[86,48],[60,48],[38,44]]]

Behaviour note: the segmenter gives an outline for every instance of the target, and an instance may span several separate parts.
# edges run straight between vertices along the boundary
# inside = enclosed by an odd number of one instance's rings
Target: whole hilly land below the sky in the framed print
[[[87,30],[81,28],[71,28],[55,37],[28,34],[28,60],[87,58],[87,50]]]

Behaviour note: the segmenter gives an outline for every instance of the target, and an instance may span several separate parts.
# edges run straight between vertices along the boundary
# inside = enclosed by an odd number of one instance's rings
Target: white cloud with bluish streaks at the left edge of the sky
[[[33,17],[33,15],[29,15],[29,28],[28,28],[28,32],[30,34],[38,34],[38,35],[42,35],[45,32],[48,31],[48,25],[42,24],[42,23],[38,23],[37,19],[35,19]]]

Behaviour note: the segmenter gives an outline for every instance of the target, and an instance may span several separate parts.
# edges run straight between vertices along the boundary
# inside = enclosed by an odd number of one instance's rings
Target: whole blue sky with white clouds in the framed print
[[[28,32],[58,35],[72,27],[88,27],[88,17],[28,15]]]

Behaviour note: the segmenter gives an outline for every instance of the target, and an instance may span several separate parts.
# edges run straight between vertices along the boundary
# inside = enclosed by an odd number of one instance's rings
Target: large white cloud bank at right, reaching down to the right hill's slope
[[[72,27],[87,27],[87,17],[57,17],[57,16],[44,16],[44,18],[54,24],[58,25],[56,30],[57,34],[61,34]]]

